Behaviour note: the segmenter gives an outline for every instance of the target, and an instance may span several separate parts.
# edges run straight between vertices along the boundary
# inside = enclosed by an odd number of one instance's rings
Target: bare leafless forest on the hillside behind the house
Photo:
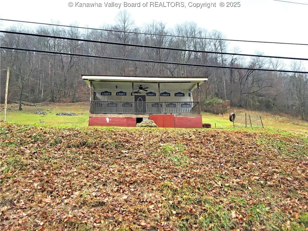
[[[78,26],[77,23],[71,25]],[[100,28],[106,30],[48,25],[26,27],[22,24],[10,26],[6,30],[189,50],[228,52],[233,49],[232,52],[241,53],[240,48],[228,47],[228,42],[222,40],[225,39],[223,32],[208,31],[194,22],[185,22],[168,28],[163,22],[153,21],[138,27],[132,15],[127,11],[120,11],[114,25],[102,25]],[[286,65],[282,59],[130,47],[8,33],[1,33],[1,46],[176,63],[305,71],[301,61],[292,61],[290,65]],[[256,51],[256,54],[262,55],[259,51]],[[82,74],[206,76],[209,81],[201,85],[202,100],[219,98],[228,100],[233,107],[289,112],[308,120],[307,74],[189,67],[16,50],[12,52],[6,49],[1,49],[0,58],[1,103],[4,102],[6,68],[10,67],[8,102],[18,101],[20,110],[22,101],[87,101],[89,88],[81,79]]]

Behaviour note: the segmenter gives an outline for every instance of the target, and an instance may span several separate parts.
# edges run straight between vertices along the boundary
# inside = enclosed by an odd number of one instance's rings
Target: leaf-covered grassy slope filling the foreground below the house
[[[2,230],[307,230],[308,144],[207,130],[1,128]]]

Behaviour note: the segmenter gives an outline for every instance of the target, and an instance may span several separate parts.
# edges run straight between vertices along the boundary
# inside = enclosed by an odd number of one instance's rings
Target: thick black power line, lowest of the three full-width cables
[[[41,52],[41,53],[48,53],[48,54],[68,55],[68,56],[84,56],[84,57],[92,57],[92,58],[126,60],[126,61],[146,62],[146,63],[164,63],[164,64],[191,66],[191,67],[214,67],[214,68],[226,68],[226,69],[237,69],[237,70],[276,71],[276,72],[291,72],[291,73],[308,74],[308,72],[306,71],[285,71],[285,70],[259,69],[259,68],[249,68],[249,67],[227,67],[227,66],[215,66],[215,65],[204,65],[204,64],[193,64],[193,63],[175,63],[175,62],[164,62],[164,61],[144,60],[144,59],[129,59],[129,58],[107,57],[107,56],[99,56],[99,55],[74,54],[74,53],[57,52],[57,51],[41,51],[41,50],[34,50],[34,49],[3,47],[3,46],[0,46],[0,48],[9,49],[9,50],[18,50],[18,51],[33,51],[33,52]]]

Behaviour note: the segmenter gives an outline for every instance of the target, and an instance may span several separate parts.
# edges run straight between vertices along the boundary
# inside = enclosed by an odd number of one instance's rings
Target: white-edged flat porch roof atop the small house
[[[207,77],[139,77],[139,76],[104,76],[82,75],[82,79],[90,86],[92,82],[128,82],[128,83],[199,83],[208,80]]]

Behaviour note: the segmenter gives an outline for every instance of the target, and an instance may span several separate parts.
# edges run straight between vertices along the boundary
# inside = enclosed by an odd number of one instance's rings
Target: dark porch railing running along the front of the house
[[[92,114],[199,114],[199,102],[125,102],[97,101],[90,103]]]

